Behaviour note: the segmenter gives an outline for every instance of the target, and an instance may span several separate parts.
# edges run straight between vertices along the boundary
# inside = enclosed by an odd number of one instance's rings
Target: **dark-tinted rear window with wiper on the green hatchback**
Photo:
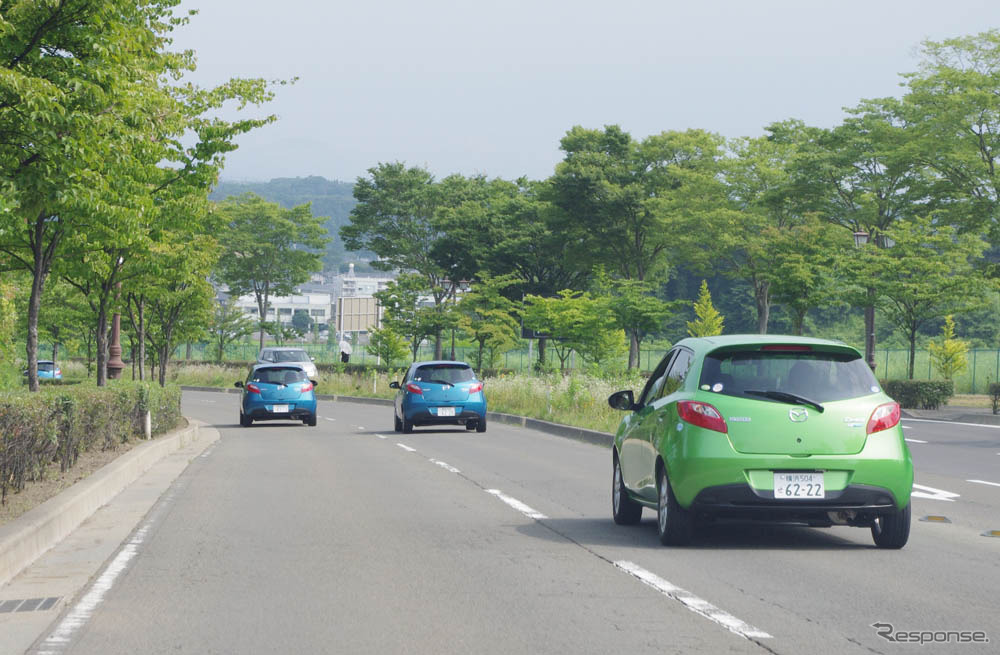
[[[705,391],[729,396],[745,396],[747,389],[781,391],[821,403],[881,390],[861,357],[822,351],[710,353],[705,357],[698,384]]]

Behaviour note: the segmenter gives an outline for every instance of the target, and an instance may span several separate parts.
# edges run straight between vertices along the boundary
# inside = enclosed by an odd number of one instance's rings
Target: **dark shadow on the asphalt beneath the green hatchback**
[[[652,517],[637,526],[619,526],[611,520],[542,519],[521,525],[518,532],[547,541],[570,540],[582,546],[663,548]],[[853,532],[852,532],[853,531]],[[847,537],[854,537],[850,539]],[[861,541],[858,540],[861,539]],[[676,546],[674,546],[676,548]],[[700,526],[683,548],[702,550],[856,550],[874,548],[867,528],[810,528],[759,522],[718,522]]]

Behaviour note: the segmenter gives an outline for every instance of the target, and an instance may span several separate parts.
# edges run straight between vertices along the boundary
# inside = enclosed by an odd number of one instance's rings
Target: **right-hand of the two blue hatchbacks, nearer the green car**
[[[483,383],[465,362],[415,362],[396,392],[393,419],[396,432],[413,432],[415,425],[464,425],[486,432]]]

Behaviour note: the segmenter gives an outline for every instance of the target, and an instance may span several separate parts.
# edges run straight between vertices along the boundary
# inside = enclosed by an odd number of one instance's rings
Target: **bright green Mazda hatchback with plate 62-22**
[[[838,341],[719,336],[678,342],[614,439],[615,523],[656,509],[660,541],[697,519],[732,517],[871,528],[880,548],[910,534],[913,463],[887,396]]]

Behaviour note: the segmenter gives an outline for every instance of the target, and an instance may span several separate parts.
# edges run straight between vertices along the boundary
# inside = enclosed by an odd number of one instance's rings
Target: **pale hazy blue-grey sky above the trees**
[[[193,80],[291,78],[224,179],[354,181],[379,162],[544,178],[573,125],[637,138],[832,126],[898,95],[917,47],[1000,28],[998,0],[184,0]]]

